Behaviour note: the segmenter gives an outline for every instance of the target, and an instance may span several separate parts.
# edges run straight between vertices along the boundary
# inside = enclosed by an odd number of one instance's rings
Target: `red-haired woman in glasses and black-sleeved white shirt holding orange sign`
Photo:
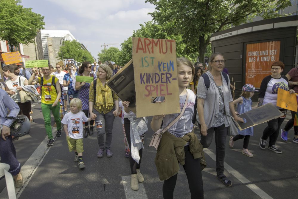
[[[261,86],[260,86],[260,94],[258,98],[258,107],[272,103],[276,106],[277,102],[277,89],[283,89],[283,90],[289,90],[288,87],[288,78],[284,75],[281,75],[283,72],[283,69],[285,67],[285,64],[281,61],[276,61],[271,65],[271,75],[268,75],[262,80]],[[295,93],[294,90],[289,90],[290,94]],[[260,138],[259,146],[261,149],[266,149],[266,143],[267,139],[269,138],[269,144],[268,149],[275,152],[275,153],[282,153],[280,149],[278,149],[275,146],[275,142],[278,137],[278,133],[280,130],[280,125],[285,120],[285,117],[287,116],[287,110],[282,109],[280,107],[278,108],[281,112],[284,113],[284,115],[280,118],[272,119],[267,122],[268,126],[264,129],[263,135]]]

